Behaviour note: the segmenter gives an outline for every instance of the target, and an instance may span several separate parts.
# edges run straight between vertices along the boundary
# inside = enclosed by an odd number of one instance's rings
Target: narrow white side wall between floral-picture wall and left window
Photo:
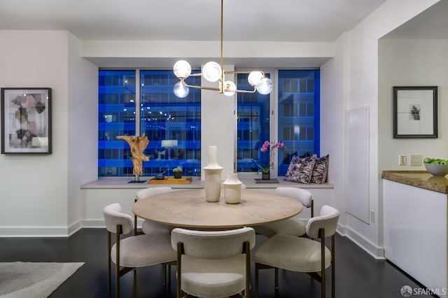
[[[98,67],[81,58],[81,41],[69,37],[68,57],[68,226],[80,229],[85,206],[80,185],[97,179]]]

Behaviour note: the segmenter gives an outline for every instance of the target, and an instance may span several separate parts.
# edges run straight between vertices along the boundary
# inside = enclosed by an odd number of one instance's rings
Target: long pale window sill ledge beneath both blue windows
[[[142,189],[147,187],[160,187],[160,186],[169,186],[173,189],[194,189],[194,188],[204,188],[203,180],[200,180],[199,177],[193,177],[193,180],[190,184],[149,184],[148,180],[151,177],[141,177],[141,180],[146,180],[144,183],[128,183],[132,181],[132,177],[129,178],[99,178],[98,180],[93,180],[89,183],[85,183],[80,186],[81,189]],[[283,178],[277,178],[279,183],[255,183],[253,178],[240,178],[242,183],[246,185],[246,188],[251,189],[266,189],[266,188],[276,188],[280,186],[288,186],[288,187],[300,187],[300,188],[317,188],[317,189],[332,189],[334,186],[330,183],[323,184],[302,184],[295,183],[283,180]]]

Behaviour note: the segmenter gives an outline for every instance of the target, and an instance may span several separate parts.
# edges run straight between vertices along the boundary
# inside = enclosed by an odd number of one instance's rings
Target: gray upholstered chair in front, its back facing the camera
[[[228,231],[172,230],[177,251],[177,297],[251,297],[251,227]]]

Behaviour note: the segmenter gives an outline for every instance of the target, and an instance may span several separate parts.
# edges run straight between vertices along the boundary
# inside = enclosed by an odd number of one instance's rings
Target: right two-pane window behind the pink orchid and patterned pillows
[[[258,172],[257,164],[268,163],[269,152],[260,152],[264,141],[286,145],[286,150],[278,151],[274,164],[278,176],[285,176],[293,155],[319,152],[320,71],[279,70],[276,76],[277,94],[237,95],[237,171],[243,175]],[[246,74],[239,74],[237,83],[239,89],[251,90]],[[271,108],[271,102],[276,108]],[[272,111],[276,111],[277,127],[271,121]]]

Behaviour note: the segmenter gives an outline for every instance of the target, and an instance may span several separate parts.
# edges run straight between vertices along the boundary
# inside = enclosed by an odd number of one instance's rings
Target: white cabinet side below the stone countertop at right
[[[383,180],[388,260],[447,297],[447,194]]]

